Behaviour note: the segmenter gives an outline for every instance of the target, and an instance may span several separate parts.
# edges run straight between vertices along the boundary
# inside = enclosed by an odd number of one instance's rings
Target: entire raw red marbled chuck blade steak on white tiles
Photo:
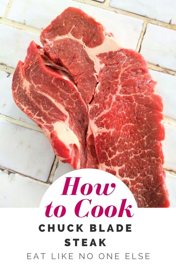
[[[14,74],[17,105],[61,161],[116,175],[138,207],[168,207],[163,104],[141,54],[120,47],[100,23],[71,7],[40,39],[43,49],[32,42]]]

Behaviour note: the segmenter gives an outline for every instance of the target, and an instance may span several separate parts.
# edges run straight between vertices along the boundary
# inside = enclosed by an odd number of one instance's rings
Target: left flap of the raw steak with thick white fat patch
[[[85,168],[87,106],[68,75],[46,65],[51,64],[46,58],[43,49],[31,42],[25,63],[19,61],[13,75],[13,98],[42,128],[62,162]]]

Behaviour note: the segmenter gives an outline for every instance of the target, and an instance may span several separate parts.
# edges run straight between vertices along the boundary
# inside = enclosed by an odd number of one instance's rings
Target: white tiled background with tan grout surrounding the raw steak
[[[0,207],[38,207],[49,185],[73,170],[57,163],[48,139],[11,94],[14,69],[29,43],[40,44],[40,30],[69,6],[95,17],[123,47],[140,51],[148,61],[158,81],[155,92],[163,97],[164,168],[171,207],[176,207],[175,5],[174,0],[0,1]]]

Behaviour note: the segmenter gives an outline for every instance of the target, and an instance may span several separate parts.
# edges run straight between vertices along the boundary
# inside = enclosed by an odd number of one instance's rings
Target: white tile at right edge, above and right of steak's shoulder
[[[176,71],[176,31],[148,24],[141,54],[152,64]]]

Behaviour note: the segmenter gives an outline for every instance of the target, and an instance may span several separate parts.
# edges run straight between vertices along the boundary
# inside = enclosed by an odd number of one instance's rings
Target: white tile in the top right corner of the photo
[[[111,0],[110,6],[172,24],[176,23],[175,0]],[[167,11],[166,11],[167,10]]]

